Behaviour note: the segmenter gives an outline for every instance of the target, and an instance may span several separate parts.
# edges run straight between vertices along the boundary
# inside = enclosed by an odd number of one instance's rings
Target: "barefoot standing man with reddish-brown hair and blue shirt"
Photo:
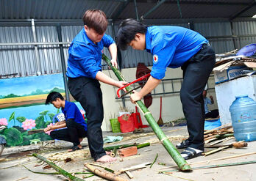
[[[88,10],[82,20],[84,28],[77,34],[68,49],[68,89],[75,100],[81,103],[88,118],[88,144],[90,154],[98,162],[116,160],[103,149],[102,122],[103,104],[99,81],[117,87],[127,82],[115,81],[102,73],[102,53],[107,47],[117,67],[117,48],[113,39],[104,34],[107,18],[101,10]]]

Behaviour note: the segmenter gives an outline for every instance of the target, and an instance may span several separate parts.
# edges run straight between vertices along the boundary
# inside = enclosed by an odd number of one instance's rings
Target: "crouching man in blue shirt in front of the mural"
[[[54,130],[50,133],[51,138],[72,142],[74,146],[68,151],[82,149],[80,142],[87,135],[87,125],[77,105],[64,100],[63,95],[59,92],[51,92],[47,96],[46,104],[49,103],[53,104],[55,108],[61,108],[65,121],[57,122],[55,125],[45,128],[44,131]],[[57,130],[65,127],[67,128]]]

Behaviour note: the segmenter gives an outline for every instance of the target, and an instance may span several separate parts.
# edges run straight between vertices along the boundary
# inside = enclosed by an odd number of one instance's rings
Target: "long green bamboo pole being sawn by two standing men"
[[[107,56],[102,54],[102,59],[107,62],[107,65],[113,70],[115,75],[117,76],[119,81],[125,81],[124,76],[121,75],[119,70],[112,66],[110,59],[107,58]],[[130,86],[126,87],[126,90],[129,91],[131,89]],[[188,165],[186,160],[182,158],[182,156],[179,154],[177,149],[174,147],[173,144],[171,144],[171,141],[168,139],[165,133],[163,133],[163,130],[160,129],[160,127],[157,125],[157,122],[154,120],[154,117],[152,116],[151,112],[146,108],[146,106],[142,103],[141,100],[138,100],[136,102],[138,105],[138,108],[141,109],[144,117],[146,118],[146,121],[149,122],[149,125],[151,126],[154,133],[157,135],[157,138],[161,141],[163,144],[163,147],[166,148],[169,155],[171,155],[171,158],[174,159],[175,163],[177,163],[177,166],[181,171],[191,171],[191,166]]]

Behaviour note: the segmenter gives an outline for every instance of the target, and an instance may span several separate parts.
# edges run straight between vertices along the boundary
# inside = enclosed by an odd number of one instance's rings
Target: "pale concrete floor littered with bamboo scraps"
[[[186,127],[169,127],[169,128],[163,128],[163,131],[166,133],[166,136],[171,137],[171,142],[175,145],[177,144],[181,138],[185,138],[188,136]],[[140,133],[140,134],[119,134],[119,133],[104,133],[104,136],[124,136],[123,141],[115,142],[115,144],[129,144],[129,143],[144,143],[144,142],[156,142],[157,137],[154,136],[154,133],[152,133],[152,130],[150,128],[145,129],[146,133]],[[232,142],[234,140],[230,140]],[[59,144],[59,145],[58,145]],[[115,144],[105,144],[105,147],[115,145]],[[87,140],[85,139],[82,141],[82,145],[86,146]],[[48,156],[50,158],[54,158],[55,155],[65,155],[65,150],[67,147],[70,147],[71,144],[68,144],[65,141],[57,141],[56,144],[54,144],[54,147],[65,147],[65,149],[55,149],[55,150],[48,150],[48,152],[39,152],[40,155]],[[206,149],[205,151],[209,151],[210,149]],[[216,160],[216,161],[210,161],[210,162],[204,162],[204,163],[197,163],[201,161],[207,161],[212,160],[216,158],[224,158],[232,155],[239,155],[239,154],[245,154],[249,152],[255,152],[256,150],[256,141],[252,141],[248,143],[248,147],[243,149],[224,149],[221,152],[214,153],[213,155],[200,156],[198,158],[193,158],[191,160],[188,160],[188,163],[191,164],[192,168],[196,168],[199,166],[210,166],[210,165],[216,165],[216,164],[223,164],[223,163],[238,163],[238,162],[248,162],[252,160],[256,160],[256,154],[255,155],[248,155],[243,156],[239,158],[230,158],[227,160]],[[182,150],[179,149],[179,152]],[[50,155],[49,152],[55,152],[55,155]],[[85,157],[81,156],[82,154],[85,155]],[[59,160],[55,162],[58,166],[65,169],[69,172],[76,172],[76,171],[85,171],[84,163],[86,162],[93,162],[93,159],[90,158],[90,155],[86,155],[85,152],[88,153],[88,147],[85,147],[82,150],[79,150],[77,152],[72,152],[73,155],[72,161],[68,163],[64,163],[63,160]],[[149,166],[147,166],[145,169],[139,169],[136,171],[131,171],[134,178],[132,180],[138,180],[138,181],[144,181],[144,180],[161,180],[161,181],[170,181],[170,180],[256,180],[256,174],[255,174],[255,166],[256,164],[246,164],[241,166],[227,166],[227,167],[220,167],[220,168],[214,168],[214,169],[196,169],[191,172],[177,172],[177,165],[174,163],[174,160],[172,160],[171,156],[168,155],[168,152],[166,152],[166,149],[159,143],[154,143],[149,147],[144,147],[142,149],[138,149],[138,155],[130,156],[127,158],[118,158],[117,161],[114,163],[100,163],[102,166],[108,167],[110,169],[113,169],[115,171],[127,168],[129,166],[138,165],[141,163],[146,162],[153,162],[154,158],[156,157],[158,153],[158,158],[152,168],[150,169]],[[44,163],[40,162],[38,158],[34,158],[27,155],[17,155],[14,160],[9,160],[5,162],[0,162],[0,180],[1,181],[18,181],[18,180],[66,180],[65,177],[60,175],[46,175],[46,174],[35,174],[31,171],[28,171],[25,169],[23,165],[25,165],[27,168],[31,169],[32,171],[40,171],[40,172],[55,172],[53,169],[43,169],[43,166],[46,166]],[[13,155],[8,156],[3,155],[1,158],[6,159],[12,159]],[[60,158],[61,159],[61,158]],[[158,163],[164,163],[166,166],[160,165]],[[12,166],[12,167],[10,167]],[[165,167],[170,166],[168,169],[163,169]],[[8,168],[10,167],[10,168]],[[159,171],[164,170],[171,170],[167,174],[160,174]],[[77,177],[82,178],[82,175],[77,175]],[[127,178],[126,174],[121,174],[121,177]],[[104,180],[100,177],[93,176],[90,178],[87,178],[86,180]]]

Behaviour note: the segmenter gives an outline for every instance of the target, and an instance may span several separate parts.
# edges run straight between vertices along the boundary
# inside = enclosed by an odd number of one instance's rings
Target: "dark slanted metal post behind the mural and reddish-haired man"
[[[58,34],[58,40],[60,42],[63,41],[63,37],[61,34],[61,26],[59,23],[57,23],[57,34]],[[70,100],[69,99],[69,93],[68,93],[68,83],[67,83],[67,77],[65,76],[65,58],[64,58],[64,51],[63,51],[63,44],[60,44],[60,62],[61,62],[61,69],[63,72],[63,81],[64,81],[64,88],[65,88],[65,99],[66,100]]]

